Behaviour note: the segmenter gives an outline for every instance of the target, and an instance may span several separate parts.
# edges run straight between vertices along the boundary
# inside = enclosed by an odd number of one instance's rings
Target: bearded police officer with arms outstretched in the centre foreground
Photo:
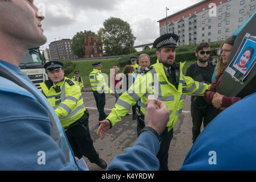
[[[157,63],[140,72],[133,87],[131,86],[119,97],[115,108],[104,121],[99,122],[100,126],[97,130],[97,134],[100,134],[103,139],[108,129],[119,122],[121,117],[128,113],[131,106],[135,105],[140,98],[140,128],[144,130],[145,103],[148,101],[147,96],[153,94],[167,105],[170,112],[169,122],[160,136],[161,144],[157,154],[160,170],[168,170],[168,151],[170,140],[173,137],[173,127],[181,115],[186,94],[204,96],[205,90],[209,88],[207,84],[201,84],[191,77],[182,75],[185,63],[174,63],[177,41],[176,34],[165,34],[155,40],[153,46],[157,48]]]

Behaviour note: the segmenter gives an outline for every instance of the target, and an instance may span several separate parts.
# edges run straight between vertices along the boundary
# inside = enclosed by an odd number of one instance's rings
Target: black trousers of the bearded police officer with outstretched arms
[[[143,129],[144,126],[141,125],[139,121],[137,121],[137,135],[139,135],[140,131]],[[159,159],[159,171],[169,171],[168,156],[169,156],[170,141],[173,138],[173,129],[171,129],[168,132],[168,129],[166,127],[164,132],[160,135],[160,138],[161,138],[160,149],[156,155],[157,159]]]

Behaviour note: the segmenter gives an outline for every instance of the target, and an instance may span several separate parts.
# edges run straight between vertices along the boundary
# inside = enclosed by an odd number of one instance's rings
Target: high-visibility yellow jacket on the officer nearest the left
[[[86,107],[84,107],[80,86],[74,81],[64,77],[64,80],[56,85],[53,85],[51,80],[47,80],[40,86],[44,96],[54,107],[63,128],[70,126],[83,116]]]

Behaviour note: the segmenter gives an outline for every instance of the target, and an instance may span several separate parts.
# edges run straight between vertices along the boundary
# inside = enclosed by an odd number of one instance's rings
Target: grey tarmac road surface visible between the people
[[[116,123],[112,129],[108,130],[105,138],[100,139],[96,135],[99,127],[99,113],[96,109],[96,103],[92,92],[82,92],[84,105],[90,113],[89,127],[94,147],[99,153],[100,158],[104,159],[107,164],[118,154],[123,154],[124,150],[133,146],[137,140],[136,120],[132,120],[132,114],[123,117],[122,121]],[[106,105],[105,113],[109,114],[115,105],[115,96],[105,94]],[[132,113],[130,111],[129,113]],[[184,109],[180,118],[174,126],[173,139],[170,142],[168,167],[170,171],[180,169],[184,162],[186,154],[192,146],[192,118],[190,115],[190,96],[186,97]],[[91,171],[105,170],[101,169],[94,163],[90,163],[87,158],[87,166]]]

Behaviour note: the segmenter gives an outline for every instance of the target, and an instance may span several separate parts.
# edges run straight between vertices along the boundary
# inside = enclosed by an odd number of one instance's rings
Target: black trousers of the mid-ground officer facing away
[[[107,117],[107,115],[104,112],[105,93],[99,93],[97,91],[93,91],[93,93],[96,101],[97,110],[99,111],[99,121],[103,121]]]

